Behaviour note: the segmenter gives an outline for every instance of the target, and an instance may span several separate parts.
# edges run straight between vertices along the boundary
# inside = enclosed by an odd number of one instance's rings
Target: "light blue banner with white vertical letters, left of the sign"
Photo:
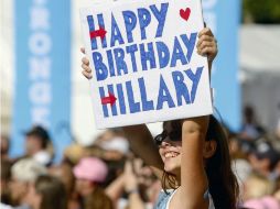
[[[50,130],[55,162],[71,143],[71,1],[15,0],[15,89],[11,156],[34,124]]]

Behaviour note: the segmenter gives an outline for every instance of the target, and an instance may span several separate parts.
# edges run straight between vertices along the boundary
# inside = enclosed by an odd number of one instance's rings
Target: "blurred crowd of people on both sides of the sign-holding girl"
[[[280,135],[267,133],[245,108],[239,133],[227,129],[231,167],[245,208],[280,208]],[[77,143],[53,164],[54,147],[45,129],[25,133],[25,155],[9,157],[10,141],[1,136],[1,208],[144,209],[153,208],[161,182],[131,151],[121,129],[101,133],[90,146]],[[223,198],[223,197],[220,197]]]

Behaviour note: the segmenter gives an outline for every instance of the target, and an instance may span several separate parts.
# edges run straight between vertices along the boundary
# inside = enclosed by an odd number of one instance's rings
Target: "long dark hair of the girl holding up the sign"
[[[180,120],[169,122],[171,122],[174,130],[182,133],[182,122]],[[216,209],[236,209],[239,187],[230,166],[227,135],[213,116],[209,117],[205,140],[215,140],[217,143],[216,152],[207,160],[205,168],[214,206]],[[164,172],[162,187],[165,191],[168,187],[175,189],[174,175]]]

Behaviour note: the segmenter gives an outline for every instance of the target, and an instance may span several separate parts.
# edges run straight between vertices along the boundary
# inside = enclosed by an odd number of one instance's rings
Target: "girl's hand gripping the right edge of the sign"
[[[208,62],[212,64],[218,53],[218,48],[217,41],[209,28],[205,28],[200,32],[196,48],[200,55],[207,55]]]

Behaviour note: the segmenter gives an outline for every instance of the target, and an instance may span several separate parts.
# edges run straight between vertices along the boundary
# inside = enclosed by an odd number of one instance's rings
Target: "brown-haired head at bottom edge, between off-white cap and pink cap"
[[[66,209],[67,198],[63,183],[53,176],[41,175],[29,189],[30,209]]]

